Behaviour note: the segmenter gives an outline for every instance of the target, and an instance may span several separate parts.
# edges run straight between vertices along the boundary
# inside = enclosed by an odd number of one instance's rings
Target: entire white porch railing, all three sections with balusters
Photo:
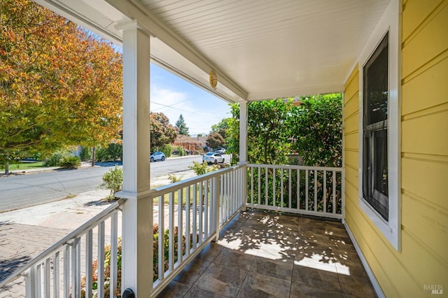
[[[221,227],[243,208],[343,218],[343,181],[341,168],[244,164],[148,192],[141,199],[157,203],[150,204],[153,210],[148,210],[153,212],[154,222],[139,229],[154,232],[151,297],[207,243],[218,239]],[[120,264],[111,262],[120,251],[118,211],[123,204],[122,199],[106,208],[9,276],[0,288],[25,274],[27,297],[81,297],[84,293],[85,297],[114,297],[114,292],[123,292],[118,281]],[[108,241],[106,222],[111,225]],[[110,243],[106,255],[105,242]]]

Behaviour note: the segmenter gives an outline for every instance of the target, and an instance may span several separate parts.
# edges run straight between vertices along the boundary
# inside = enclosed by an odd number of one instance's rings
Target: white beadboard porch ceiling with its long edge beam
[[[228,101],[342,91],[389,1],[37,0],[118,44],[138,20],[153,62]]]

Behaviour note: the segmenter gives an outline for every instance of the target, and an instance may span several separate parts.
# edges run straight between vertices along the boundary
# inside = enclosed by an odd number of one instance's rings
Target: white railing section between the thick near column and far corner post
[[[234,166],[159,187],[148,198],[158,201],[158,264],[151,296],[158,295],[207,243],[218,239],[220,227],[244,207],[245,169]]]

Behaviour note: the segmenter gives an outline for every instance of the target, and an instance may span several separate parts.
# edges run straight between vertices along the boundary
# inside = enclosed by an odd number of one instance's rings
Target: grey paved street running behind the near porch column
[[[193,161],[201,162],[202,156],[171,157],[165,162],[151,163],[151,177],[188,170]],[[102,166],[99,166],[102,165]],[[0,212],[45,204],[64,197],[95,190],[102,183],[102,176],[113,168],[111,163],[99,163],[93,168],[53,170],[26,173],[0,178]]]

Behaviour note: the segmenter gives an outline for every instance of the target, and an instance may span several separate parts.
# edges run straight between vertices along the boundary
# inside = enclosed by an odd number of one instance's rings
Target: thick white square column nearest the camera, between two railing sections
[[[149,297],[153,285],[150,184],[150,36],[137,21],[123,29],[123,285]]]

